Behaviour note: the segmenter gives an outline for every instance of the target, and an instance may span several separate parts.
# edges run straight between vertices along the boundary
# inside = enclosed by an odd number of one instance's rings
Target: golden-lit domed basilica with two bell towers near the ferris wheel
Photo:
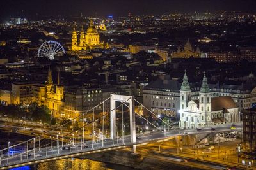
[[[92,50],[95,48],[108,48],[108,44],[100,43],[99,32],[95,28],[95,25],[92,20],[90,21],[90,25],[86,33],[84,32],[82,27],[80,31],[79,41],[77,38],[76,29],[74,28],[72,32],[72,45],[71,45],[72,51]]]

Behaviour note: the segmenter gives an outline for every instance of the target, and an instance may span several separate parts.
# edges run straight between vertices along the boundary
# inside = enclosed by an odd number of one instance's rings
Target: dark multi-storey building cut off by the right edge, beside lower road
[[[256,151],[256,107],[243,110],[243,142],[245,152]]]

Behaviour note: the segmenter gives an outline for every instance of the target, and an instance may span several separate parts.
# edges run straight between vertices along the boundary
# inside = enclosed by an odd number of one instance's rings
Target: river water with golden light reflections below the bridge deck
[[[122,169],[129,170],[131,167],[119,166],[116,164],[108,164],[103,162],[97,162],[90,159],[61,159],[50,162],[44,162],[31,166],[23,166],[13,168],[12,170],[97,170],[97,169]]]

